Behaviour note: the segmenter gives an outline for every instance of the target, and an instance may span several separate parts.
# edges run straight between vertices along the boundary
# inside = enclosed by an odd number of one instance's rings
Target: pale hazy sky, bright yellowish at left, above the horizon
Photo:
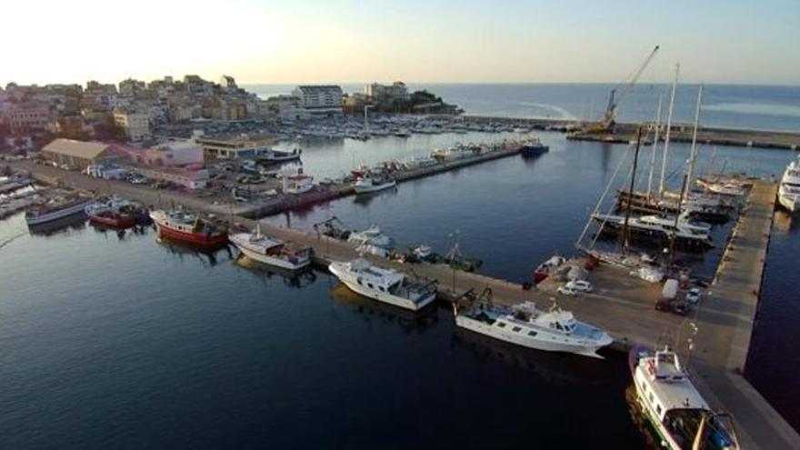
[[[198,74],[239,83],[800,84],[800,0],[7,0],[0,84]]]

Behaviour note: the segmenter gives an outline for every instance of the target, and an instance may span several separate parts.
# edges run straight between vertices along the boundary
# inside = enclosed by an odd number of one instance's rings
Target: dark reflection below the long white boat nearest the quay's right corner
[[[619,376],[619,367],[613,364],[620,359],[614,351],[601,349],[606,358],[576,357],[567,353],[546,352],[514,345],[479,335],[454,326],[453,346],[471,350],[479,360],[499,359],[506,364],[532,370],[547,381],[559,380],[586,385],[604,385],[607,380]],[[608,360],[612,361],[608,361]]]

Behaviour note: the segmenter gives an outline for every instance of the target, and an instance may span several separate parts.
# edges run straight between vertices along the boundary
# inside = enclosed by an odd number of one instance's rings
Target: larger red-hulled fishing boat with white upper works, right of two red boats
[[[158,235],[192,245],[214,247],[228,242],[227,231],[199,215],[182,210],[150,213]]]

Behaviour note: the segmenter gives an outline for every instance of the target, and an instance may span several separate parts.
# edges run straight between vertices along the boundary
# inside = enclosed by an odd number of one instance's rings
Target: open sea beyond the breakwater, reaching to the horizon
[[[343,84],[346,93],[362,92],[364,85]],[[245,85],[262,98],[290,94],[295,85]],[[409,84],[426,89],[468,115],[549,117],[597,120],[608,105],[609,84]],[[666,118],[671,85],[639,84],[618,108],[617,120],[655,120],[662,97]],[[679,84],[675,90],[675,123],[692,123],[698,85]],[[733,128],[800,130],[800,85],[705,85],[703,124]]]

